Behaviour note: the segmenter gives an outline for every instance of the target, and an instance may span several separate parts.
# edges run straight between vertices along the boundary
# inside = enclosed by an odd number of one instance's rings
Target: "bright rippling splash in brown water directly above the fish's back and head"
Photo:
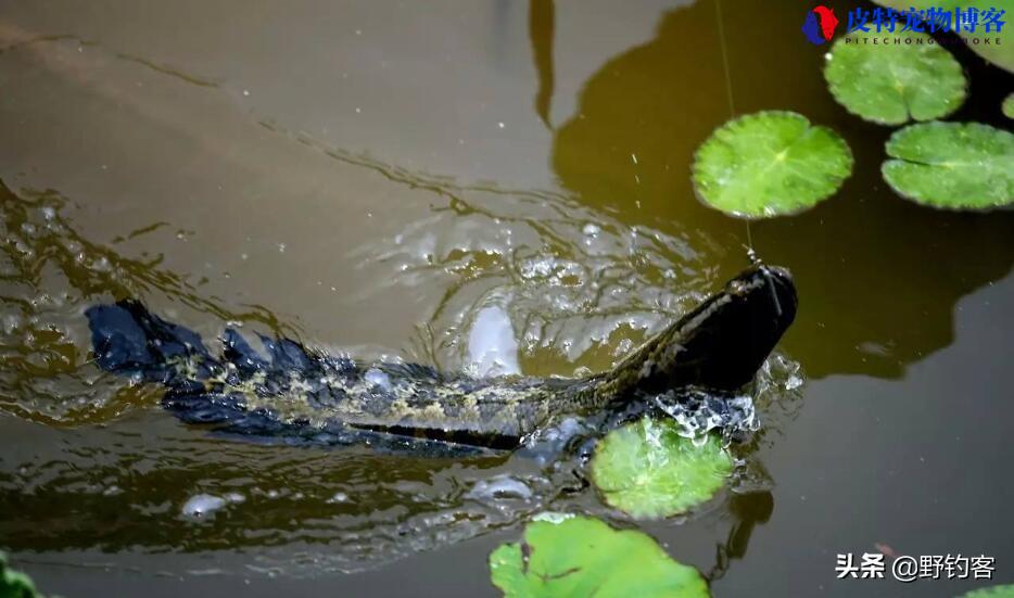
[[[430,218],[355,257],[390,268],[363,301],[445,281],[427,322],[435,335],[414,357],[448,369],[470,361],[461,340],[491,303],[517,330],[524,373],[572,376],[610,368],[715,282],[687,240],[626,226],[566,195],[451,187],[444,196]]]

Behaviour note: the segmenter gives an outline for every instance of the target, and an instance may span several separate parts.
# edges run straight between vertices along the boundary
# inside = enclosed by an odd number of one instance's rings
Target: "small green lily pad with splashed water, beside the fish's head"
[[[591,470],[607,504],[651,519],[709,500],[725,484],[733,461],[715,436],[695,446],[679,435],[675,422],[645,418],[607,434]]]

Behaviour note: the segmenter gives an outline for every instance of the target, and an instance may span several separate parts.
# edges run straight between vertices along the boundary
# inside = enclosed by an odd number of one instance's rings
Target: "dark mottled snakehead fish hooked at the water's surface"
[[[735,392],[796,316],[789,273],[755,266],[626,356],[585,378],[476,378],[428,366],[360,362],[233,329],[213,356],[193,331],[125,300],[86,315],[98,365],[165,386],[162,405],[189,423],[331,444],[455,443],[514,448],[561,418],[621,410],[662,393]],[[380,440],[381,442],[378,442]]]

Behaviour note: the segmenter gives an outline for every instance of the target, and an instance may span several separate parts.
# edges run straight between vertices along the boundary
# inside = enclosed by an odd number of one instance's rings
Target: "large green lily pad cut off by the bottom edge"
[[[696,569],[672,560],[644,533],[586,517],[529,523],[521,542],[490,555],[490,576],[517,598],[709,596]]]

